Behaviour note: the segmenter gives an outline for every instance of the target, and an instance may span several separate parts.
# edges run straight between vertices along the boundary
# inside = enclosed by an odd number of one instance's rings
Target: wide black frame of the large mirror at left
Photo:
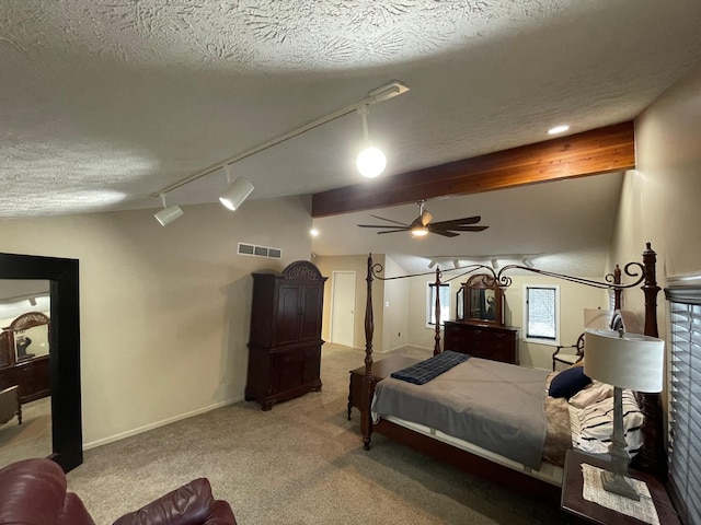
[[[79,261],[37,255],[0,254],[0,279],[50,281],[50,459],[69,471],[83,463],[80,393]]]

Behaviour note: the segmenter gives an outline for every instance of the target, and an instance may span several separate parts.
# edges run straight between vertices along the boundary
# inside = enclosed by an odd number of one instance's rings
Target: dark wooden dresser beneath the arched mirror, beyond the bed
[[[468,320],[447,320],[444,349],[518,364],[518,329]]]

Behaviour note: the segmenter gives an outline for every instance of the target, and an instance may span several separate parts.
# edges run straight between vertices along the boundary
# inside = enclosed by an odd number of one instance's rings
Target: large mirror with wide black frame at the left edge
[[[45,446],[45,453],[32,448],[22,456],[21,447],[9,445],[0,448],[0,466],[48,456],[66,471],[77,467],[82,463],[78,260],[0,254],[0,390],[16,389],[23,417],[22,424],[13,415],[0,424],[0,447],[3,438],[12,441],[25,429],[38,432],[30,422],[39,413],[48,425],[47,443],[31,444]]]

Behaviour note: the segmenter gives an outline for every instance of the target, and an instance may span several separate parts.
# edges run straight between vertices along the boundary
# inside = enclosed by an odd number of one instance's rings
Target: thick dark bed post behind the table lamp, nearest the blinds
[[[655,271],[656,254],[651,244],[646,243],[643,253],[645,267],[645,283],[642,290],[645,294],[645,329],[644,334],[657,337],[657,285]],[[642,470],[651,471],[659,478],[667,479],[667,451],[665,450],[664,420],[659,394],[637,393],[637,401],[645,417],[643,425],[643,446],[633,458],[633,465]]]

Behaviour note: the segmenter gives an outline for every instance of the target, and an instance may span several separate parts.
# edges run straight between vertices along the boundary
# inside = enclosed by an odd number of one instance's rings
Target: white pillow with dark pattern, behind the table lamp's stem
[[[573,432],[572,445],[591,454],[608,454],[613,433],[613,398],[608,397],[586,408],[575,408],[578,433]],[[643,445],[642,425],[645,418],[640,410],[635,395],[623,390],[623,432],[625,450],[631,456]]]

